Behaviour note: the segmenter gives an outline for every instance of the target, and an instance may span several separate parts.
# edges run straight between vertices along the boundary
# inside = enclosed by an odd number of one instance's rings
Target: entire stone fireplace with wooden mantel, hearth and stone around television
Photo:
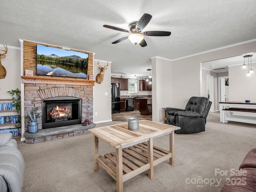
[[[24,41],[24,74],[25,70],[32,70],[36,74],[37,44],[40,43]],[[93,74],[93,53],[86,53],[89,55],[89,75]],[[81,125],[85,119],[93,122],[95,80],[37,75],[21,78],[24,84],[24,116],[34,107],[38,107],[38,111],[42,112],[42,118],[38,119],[38,134],[29,134],[28,120],[24,120],[22,133],[26,142],[36,143],[85,134],[88,128],[95,126]]]

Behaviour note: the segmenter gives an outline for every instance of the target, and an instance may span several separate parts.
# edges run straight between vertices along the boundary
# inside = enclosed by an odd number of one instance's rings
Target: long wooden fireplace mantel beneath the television
[[[85,80],[85,79],[77,79],[77,78],[64,78],[64,77],[46,77],[46,76],[21,76],[22,83],[41,83],[44,84],[58,84],[65,82],[65,84],[83,84],[87,86],[94,86],[95,80]]]

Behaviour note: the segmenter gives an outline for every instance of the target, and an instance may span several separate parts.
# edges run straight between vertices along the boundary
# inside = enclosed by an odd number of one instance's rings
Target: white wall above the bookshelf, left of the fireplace
[[[6,69],[6,77],[0,79],[0,99],[11,99],[12,96],[7,91],[16,88],[20,90],[20,48],[8,45],[7,48],[6,57],[1,59],[2,66]],[[0,45],[0,49],[4,50],[4,46]]]

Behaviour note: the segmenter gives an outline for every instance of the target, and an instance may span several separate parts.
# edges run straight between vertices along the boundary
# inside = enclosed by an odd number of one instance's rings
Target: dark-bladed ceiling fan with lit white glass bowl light
[[[129,36],[120,38],[120,39],[112,42],[112,44],[116,44],[123,40],[129,39],[132,43],[140,44],[140,46],[145,47],[145,46],[147,46],[147,43],[144,40],[144,35],[145,36],[170,36],[170,34],[171,34],[170,31],[145,31],[145,32],[142,32],[142,30],[150,22],[151,18],[152,18],[152,15],[144,13],[139,21],[133,21],[133,22],[129,23],[128,26],[129,26],[130,30],[126,30],[126,29],[122,29],[122,28],[118,28],[118,27],[114,27],[114,26],[110,26],[110,25],[103,25],[103,26],[106,28],[110,28],[110,29],[114,29],[114,30],[118,30],[118,31],[126,32],[126,33],[131,33]]]

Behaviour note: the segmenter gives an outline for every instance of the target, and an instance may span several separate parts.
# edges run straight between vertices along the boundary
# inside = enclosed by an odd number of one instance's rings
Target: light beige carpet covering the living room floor
[[[256,126],[219,121],[209,113],[206,131],[175,134],[175,164],[168,161],[124,182],[125,192],[216,192],[237,170],[244,156],[256,148]],[[116,122],[112,122],[116,123]],[[154,139],[154,145],[168,149],[168,136]],[[100,167],[93,168],[93,136],[85,134],[37,144],[18,142],[25,160],[22,192],[115,192],[116,181]],[[99,140],[99,153],[114,148]],[[227,175],[215,170],[228,171]],[[194,184],[201,178],[201,184]],[[220,184],[218,184],[218,182]]]

